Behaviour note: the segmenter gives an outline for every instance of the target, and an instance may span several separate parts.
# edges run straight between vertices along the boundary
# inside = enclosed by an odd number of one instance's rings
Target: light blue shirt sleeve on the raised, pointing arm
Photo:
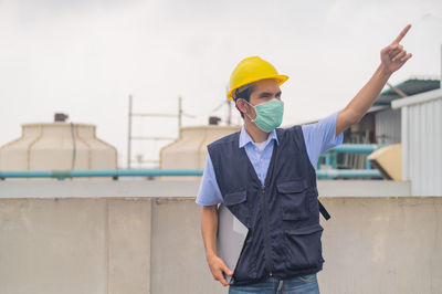
[[[315,124],[302,126],[308,158],[315,169],[323,153],[343,143],[343,133],[336,137],[337,117],[338,113],[334,113]]]

